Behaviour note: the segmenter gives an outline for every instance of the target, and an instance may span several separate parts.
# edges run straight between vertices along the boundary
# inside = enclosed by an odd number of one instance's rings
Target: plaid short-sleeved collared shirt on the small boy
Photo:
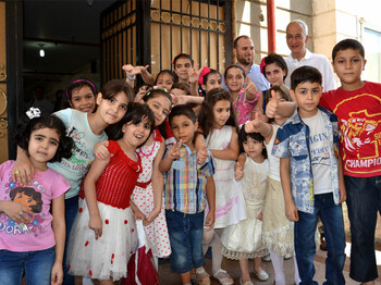
[[[167,150],[171,146],[167,147]],[[165,209],[183,213],[199,213],[206,205],[207,177],[214,174],[211,153],[207,161],[199,165],[196,151],[183,145],[180,159],[172,162],[165,174],[164,201]],[[165,153],[167,156],[167,153]]]

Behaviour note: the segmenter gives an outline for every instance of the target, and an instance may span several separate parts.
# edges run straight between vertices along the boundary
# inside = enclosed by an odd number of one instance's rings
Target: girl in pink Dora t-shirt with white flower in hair
[[[26,284],[61,284],[70,185],[47,162],[70,158],[73,140],[57,116],[41,116],[35,108],[27,113],[30,120],[20,124],[15,140],[28,154],[35,177],[23,187],[12,178],[14,161],[0,165],[0,280],[21,284],[25,275]]]

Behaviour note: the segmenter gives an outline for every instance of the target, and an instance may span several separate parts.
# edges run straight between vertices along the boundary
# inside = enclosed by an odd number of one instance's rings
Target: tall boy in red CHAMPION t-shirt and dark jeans
[[[351,221],[349,276],[362,284],[378,277],[374,256],[377,212],[381,213],[381,84],[361,80],[365,50],[344,39],[332,50],[342,86],[323,94],[320,104],[339,117],[341,153]]]

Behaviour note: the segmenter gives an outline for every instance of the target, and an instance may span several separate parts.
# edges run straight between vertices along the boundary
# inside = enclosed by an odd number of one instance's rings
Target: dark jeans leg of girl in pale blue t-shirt
[[[69,236],[72,230],[75,215],[78,212],[78,196],[65,199],[65,223],[66,223],[66,239],[65,251],[63,255],[63,285],[74,285],[74,276],[69,274],[69,267],[66,263],[66,252],[69,246]]]

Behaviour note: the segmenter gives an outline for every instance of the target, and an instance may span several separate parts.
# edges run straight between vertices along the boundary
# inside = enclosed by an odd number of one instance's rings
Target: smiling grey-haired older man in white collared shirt
[[[302,20],[290,22],[286,28],[286,41],[291,54],[285,59],[288,67],[285,84],[290,87],[290,76],[297,67],[310,65],[318,69],[322,74],[323,91],[336,89],[336,82],[329,60],[322,54],[310,52],[306,48],[308,39],[308,26],[305,22]]]

